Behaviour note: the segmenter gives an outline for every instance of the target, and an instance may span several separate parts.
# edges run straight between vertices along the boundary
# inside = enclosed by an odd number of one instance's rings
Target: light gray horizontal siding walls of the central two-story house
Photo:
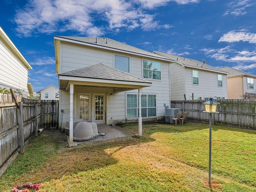
[[[146,79],[152,82],[152,86],[142,89],[142,94],[156,95],[156,115],[163,117],[165,114],[164,103],[170,103],[170,80],[169,80],[169,63],[159,59],[152,59],[132,54],[124,54],[120,52],[100,50],[96,48],[74,45],[69,43],[61,43],[60,48],[60,73],[84,68],[94,64],[102,63],[114,68],[114,55],[118,54],[130,58],[130,74],[142,78],[143,76],[143,59],[161,62],[161,80]],[[74,118],[77,117],[76,97],[78,93],[102,93],[106,94],[106,123],[124,123],[126,122],[126,94],[138,94],[138,90],[127,92],[118,92],[110,95],[111,90],[102,90],[102,88],[93,88],[92,90],[83,90],[83,87],[74,87]],[[69,91],[62,90],[62,100],[60,102],[61,109],[69,110]],[[63,122],[69,120],[69,114],[63,116]]]

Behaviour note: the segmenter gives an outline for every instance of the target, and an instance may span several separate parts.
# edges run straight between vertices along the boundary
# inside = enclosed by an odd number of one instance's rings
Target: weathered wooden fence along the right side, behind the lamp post
[[[208,123],[209,114],[202,104],[206,100],[173,100],[170,108],[179,108],[181,112],[188,111],[188,120]],[[213,123],[238,128],[256,129],[256,100],[215,100],[220,104],[213,115]]]

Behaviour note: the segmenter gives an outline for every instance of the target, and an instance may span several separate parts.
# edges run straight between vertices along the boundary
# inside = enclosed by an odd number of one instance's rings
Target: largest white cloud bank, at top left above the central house
[[[148,14],[152,8],[173,1],[177,4],[198,3],[199,0],[28,0],[16,10],[14,22],[20,36],[75,30],[79,34],[100,36],[107,30],[155,30],[170,28]]]

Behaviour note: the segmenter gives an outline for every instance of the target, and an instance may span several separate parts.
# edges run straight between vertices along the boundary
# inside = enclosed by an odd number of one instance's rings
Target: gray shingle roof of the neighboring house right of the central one
[[[213,72],[228,74],[228,72],[226,72],[224,70],[220,70],[220,69],[210,66],[206,63],[203,64],[202,62],[200,62],[198,60],[180,57],[180,56],[176,56],[173,54],[168,54],[168,53],[164,53],[164,52],[160,52],[160,51],[154,51],[154,53],[160,54],[162,56],[165,56],[167,58],[175,60],[176,63],[182,64],[183,66],[188,66],[188,67],[192,67],[192,68],[198,68],[201,70],[209,70],[209,71],[213,71]]]

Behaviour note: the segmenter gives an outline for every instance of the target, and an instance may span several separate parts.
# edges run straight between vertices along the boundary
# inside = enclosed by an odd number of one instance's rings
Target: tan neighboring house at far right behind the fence
[[[231,67],[219,68],[229,73],[228,75],[228,99],[242,99],[245,93],[256,94],[256,75],[240,71]]]

